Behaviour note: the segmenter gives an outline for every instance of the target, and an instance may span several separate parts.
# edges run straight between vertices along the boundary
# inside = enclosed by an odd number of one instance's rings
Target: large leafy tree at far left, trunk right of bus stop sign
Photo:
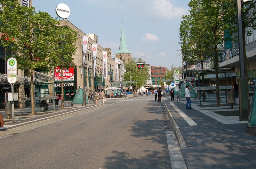
[[[51,71],[48,58],[54,53],[55,28],[58,21],[48,13],[35,11],[35,8],[22,7],[18,1],[1,0],[0,32],[5,32],[10,40],[2,40],[2,46],[11,46],[21,70],[29,69],[31,77],[31,114],[35,114],[34,70]]]

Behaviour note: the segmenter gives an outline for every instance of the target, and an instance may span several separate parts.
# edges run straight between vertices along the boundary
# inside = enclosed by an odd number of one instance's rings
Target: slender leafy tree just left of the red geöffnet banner
[[[76,53],[76,40],[77,32],[70,27],[58,26],[56,29],[55,43],[54,43],[54,55],[51,58],[52,66],[55,72],[61,73],[61,109],[64,108],[64,84],[63,84],[63,71],[68,70],[69,67],[73,67],[72,56]],[[60,69],[57,69],[59,67]]]

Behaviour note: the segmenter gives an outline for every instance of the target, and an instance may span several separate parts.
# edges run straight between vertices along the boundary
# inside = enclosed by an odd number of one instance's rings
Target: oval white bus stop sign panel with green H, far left
[[[17,60],[9,58],[7,60],[7,81],[14,84],[17,81]]]

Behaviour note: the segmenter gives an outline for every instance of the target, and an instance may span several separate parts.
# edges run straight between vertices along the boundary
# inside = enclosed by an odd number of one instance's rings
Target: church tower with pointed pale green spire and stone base
[[[128,63],[128,62],[130,62],[132,60],[132,53],[128,51],[127,45],[126,45],[126,40],[125,40],[125,36],[124,36],[124,29],[123,29],[123,23],[122,23],[119,51],[117,53],[115,53],[115,55],[116,55],[117,59],[123,60],[124,63]]]

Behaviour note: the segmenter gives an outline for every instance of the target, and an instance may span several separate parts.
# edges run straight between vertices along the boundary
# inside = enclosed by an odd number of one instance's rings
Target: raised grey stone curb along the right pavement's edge
[[[170,122],[172,124],[172,130],[173,130],[173,132],[174,132],[174,134],[175,134],[175,136],[176,136],[176,138],[177,138],[177,140],[178,140],[178,142],[180,144],[180,147],[187,147],[187,144],[186,144],[186,142],[184,140],[184,137],[181,134],[180,128],[179,128],[178,124],[176,123],[175,119],[173,118],[172,113],[168,109],[168,107],[167,107],[165,102],[164,102],[164,107],[165,107],[165,109],[168,112],[167,114],[168,114],[169,120],[170,120]]]

